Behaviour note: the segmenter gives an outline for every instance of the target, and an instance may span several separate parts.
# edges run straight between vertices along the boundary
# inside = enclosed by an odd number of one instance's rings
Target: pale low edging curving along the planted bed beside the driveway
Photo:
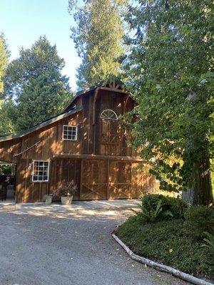
[[[161,271],[165,271],[165,272],[168,272],[180,279],[183,279],[185,281],[189,281],[193,284],[196,284],[196,285],[213,285],[212,283],[210,282],[207,282],[203,279],[199,279],[197,277],[194,277],[190,274],[186,274],[182,271],[179,271],[178,269],[175,269],[173,267],[170,267],[170,266],[167,266],[167,265],[163,265],[163,264],[160,264],[156,261],[152,261],[150,259],[146,259],[145,257],[140,257],[139,255],[137,254],[134,254],[131,249],[129,247],[127,247],[126,244],[124,244],[121,239],[119,239],[116,234],[114,234],[114,232],[111,234],[112,237],[116,240],[116,242],[118,242],[118,244],[121,245],[121,247],[123,247],[123,249],[125,249],[125,251],[128,253],[128,255],[131,257],[131,259],[134,259],[136,261],[139,261],[143,264],[146,264],[148,266],[151,266],[155,269],[158,269],[158,270],[161,270]]]

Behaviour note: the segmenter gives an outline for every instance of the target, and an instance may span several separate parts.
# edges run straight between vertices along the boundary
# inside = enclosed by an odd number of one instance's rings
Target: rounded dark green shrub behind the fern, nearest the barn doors
[[[158,194],[145,195],[142,199],[144,212],[155,212],[159,201],[161,201],[161,212],[156,220],[161,219],[183,219],[188,204],[180,198],[168,197]]]

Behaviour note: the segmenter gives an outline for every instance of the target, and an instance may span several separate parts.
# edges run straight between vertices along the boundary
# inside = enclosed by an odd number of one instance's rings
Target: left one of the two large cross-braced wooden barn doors
[[[105,160],[82,160],[80,199],[107,199]]]

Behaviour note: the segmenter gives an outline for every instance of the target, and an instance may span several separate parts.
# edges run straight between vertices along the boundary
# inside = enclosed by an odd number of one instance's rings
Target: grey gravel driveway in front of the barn
[[[26,206],[0,212],[0,284],[187,284],[138,264],[111,237],[130,209]]]

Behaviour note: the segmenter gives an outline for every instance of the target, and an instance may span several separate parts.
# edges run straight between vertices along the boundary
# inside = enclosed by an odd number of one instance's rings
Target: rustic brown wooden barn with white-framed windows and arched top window
[[[138,170],[118,117],[135,101],[123,83],[79,92],[60,115],[23,133],[0,138],[0,160],[16,163],[16,202],[41,202],[62,182],[74,180],[74,199],[138,198],[158,187]]]

